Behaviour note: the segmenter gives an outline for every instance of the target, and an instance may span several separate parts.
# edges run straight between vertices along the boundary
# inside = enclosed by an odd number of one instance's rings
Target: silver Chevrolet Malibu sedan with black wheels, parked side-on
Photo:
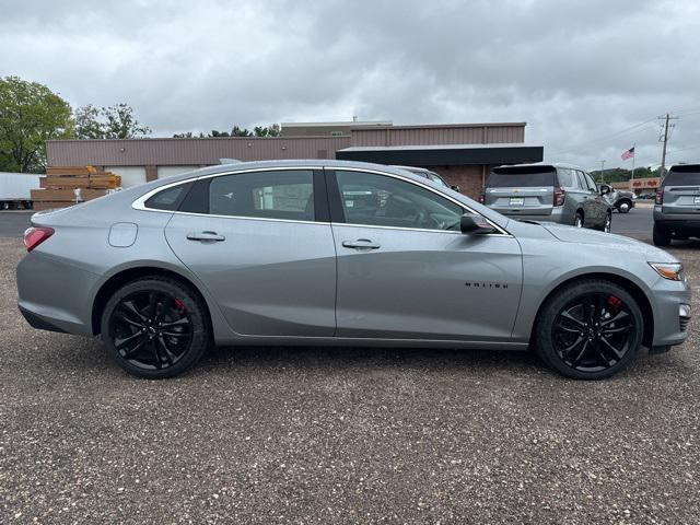
[[[682,342],[690,319],[658,248],[511,220],[374,164],[205,168],[36,213],[24,243],[27,322],[101,335],[152,378],[215,343],[533,349],[595,380]]]

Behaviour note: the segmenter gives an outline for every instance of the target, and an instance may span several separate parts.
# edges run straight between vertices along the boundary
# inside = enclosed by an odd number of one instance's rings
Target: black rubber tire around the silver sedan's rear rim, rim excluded
[[[125,360],[112,340],[109,335],[109,318],[114,313],[117,304],[127,295],[135,292],[148,290],[166,292],[175,295],[184,304],[192,324],[192,340],[186,354],[177,361],[173,366],[163,370],[148,370],[133,365]],[[114,359],[119,366],[127,372],[148,378],[165,378],[180,374],[189,369],[205,352],[209,345],[209,323],[205,316],[205,308],[201,301],[186,287],[170,279],[147,278],[128,283],[117,290],[105,304],[101,319],[102,340],[104,341],[107,353]]]

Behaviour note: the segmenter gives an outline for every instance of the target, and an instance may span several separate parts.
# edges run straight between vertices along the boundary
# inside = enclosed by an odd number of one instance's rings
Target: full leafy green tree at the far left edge
[[[71,136],[66,101],[38,82],[0,79],[0,170],[43,172],[46,141]]]

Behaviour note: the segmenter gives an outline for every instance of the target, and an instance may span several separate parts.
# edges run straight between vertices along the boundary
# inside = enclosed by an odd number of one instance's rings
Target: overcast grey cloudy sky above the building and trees
[[[0,75],[153,136],[233,125],[527,121],[548,161],[700,160],[696,0],[0,0]]]

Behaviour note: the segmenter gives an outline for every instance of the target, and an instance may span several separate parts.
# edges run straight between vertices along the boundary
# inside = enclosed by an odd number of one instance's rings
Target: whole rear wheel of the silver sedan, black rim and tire
[[[203,301],[164,277],[125,284],[107,301],[101,322],[107,353],[130,374],[160,380],[191,368],[209,346]]]

